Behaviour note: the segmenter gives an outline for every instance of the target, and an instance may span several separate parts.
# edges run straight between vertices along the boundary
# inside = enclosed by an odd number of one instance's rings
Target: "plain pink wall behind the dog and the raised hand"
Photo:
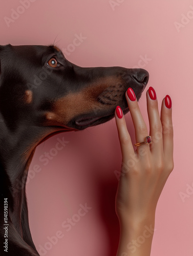
[[[25,8],[21,8],[22,2]],[[153,86],[159,106],[166,94],[171,96],[175,169],[158,203],[152,255],[190,256],[193,191],[186,189],[187,184],[193,186],[193,2],[114,0],[114,8],[110,2],[4,1],[0,44],[49,45],[55,40],[63,52],[71,50],[68,60],[82,67],[141,66],[150,74],[145,92]],[[21,14],[14,16],[8,27],[4,17],[10,18],[12,9]],[[87,38],[79,46],[69,46],[76,34]],[[148,60],[144,62],[141,59],[145,56]],[[148,123],[145,93],[139,104]],[[135,142],[130,114],[126,120]],[[44,165],[47,162],[40,161],[45,158],[42,155],[56,152],[52,148],[63,137],[66,146]],[[115,120],[82,132],[56,135],[38,146],[27,193],[33,240],[38,250],[46,248],[40,255],[116,255],[119,224],[114,200],[118,181],[114,171],[120,170],[120,164]],[[80,204],[91,207],[81,217],[77,215]],[[69,231],[62,227],[68,218],[74,220]]]

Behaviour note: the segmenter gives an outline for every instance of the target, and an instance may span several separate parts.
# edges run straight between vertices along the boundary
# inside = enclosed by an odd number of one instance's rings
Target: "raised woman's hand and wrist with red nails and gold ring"
[[[135,127],[136,143],[145,141],[149,135],[152,137],[152,144],[143,144],[134,150],[120,107],[115,111],[122,152],[122,167],[116,195],[116,212],[121,230],[118,256],[150,255],[153,232],[152,236],[146,239],[143,233],[147,233],[145,226],[154,230],[157,202],[174,168],[171,99],[168,95],[163,99],[160,118],[156,93],[152,87],[148,89],[146,97],[149,134],[134,91],[129,88],[126,92]],[[144,240],[142,244],[137,240],[139,237],[144,237],[141,238],[141,241]]]

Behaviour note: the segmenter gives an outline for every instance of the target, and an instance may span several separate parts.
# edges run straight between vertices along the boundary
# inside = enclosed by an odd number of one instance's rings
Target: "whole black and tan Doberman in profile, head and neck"
[[[54,45],[0,46],[1,255],[39,255],[26,201],[36,146],[109,121],[117,105],[127,113],[125,91],[139,100],[148,78],[143,69],[76,66]]]

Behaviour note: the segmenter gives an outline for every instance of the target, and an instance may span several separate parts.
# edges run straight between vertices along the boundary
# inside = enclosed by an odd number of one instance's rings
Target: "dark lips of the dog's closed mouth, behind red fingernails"
[[[123,114],[126,114],[129,111],[128,108],[123,110]],[[75,125],[79,130],[83,130],[90,126],[95,126],[104,122],[107,122],[114,118],[115,114],[106,115],[106,116],[98,116],[98,117],[80,117],[75,121]]]

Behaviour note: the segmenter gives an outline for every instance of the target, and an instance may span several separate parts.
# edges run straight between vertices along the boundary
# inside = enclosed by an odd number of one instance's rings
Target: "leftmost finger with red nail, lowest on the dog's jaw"
[[[125,118],[120,106],[117,106],[115,110],[115,119],[117,125],[117,131],[119,135],[119,142],[121,146],[122,158],[126,159],[131,154],[135,154],[134,148],[132,145],[130,134],[128,133]]]

